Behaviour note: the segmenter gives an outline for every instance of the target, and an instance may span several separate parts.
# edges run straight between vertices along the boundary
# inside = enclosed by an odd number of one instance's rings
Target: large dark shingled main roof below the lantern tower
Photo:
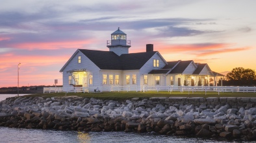
[[[157,52],[139,52],[122,54],[118,56],[114,52],[101,50],[79,49],[87,58],[99,67],[99,69],[133,70],[140,69]]]

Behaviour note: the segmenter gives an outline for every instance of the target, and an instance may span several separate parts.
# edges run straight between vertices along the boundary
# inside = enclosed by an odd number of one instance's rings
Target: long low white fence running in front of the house
[[[220,92],[238,92],[238,93],[256,93],[256,87],[233,87],[233,86],[136,86],[136,85],[128,85],[128,86],[101,86],[101,87],[71,87],[68,89],[63,89],[62,87],[44,87],[44,93],[89,93],[89,92],[111,92],[111,91],[168,91],[170,94],[172,91],[188,91],[188,94],[194,93],[197,91],[216,91],[218,94]]]

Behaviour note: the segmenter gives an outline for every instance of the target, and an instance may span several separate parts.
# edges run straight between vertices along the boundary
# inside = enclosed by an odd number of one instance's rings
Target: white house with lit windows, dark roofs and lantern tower
[[[152,44],[146,52],[130,53],[131,41],[120,28],[107,41],[109,51],[77,49],[60,69],[63,89],[104,86],[205,86],[217,85],[224,75],[211,71],[207,63],[166,61]],[[89,88],[90,89],[90,88]]]

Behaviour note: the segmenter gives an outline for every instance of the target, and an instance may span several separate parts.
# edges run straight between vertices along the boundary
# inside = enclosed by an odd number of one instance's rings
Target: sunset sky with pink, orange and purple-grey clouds
[[[109,50],[120,27],[130,53],[153,44],[166,61],[256,70],[255,0],[0,0],[0,87],[62,85],[77,49]]]

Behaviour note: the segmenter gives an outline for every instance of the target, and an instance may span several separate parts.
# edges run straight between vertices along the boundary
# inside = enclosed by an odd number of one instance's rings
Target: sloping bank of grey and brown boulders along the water
[[[155,98],[19,96],[0,102],[0,126],[256,140],[256,108],[252,104],[175,104]]]

